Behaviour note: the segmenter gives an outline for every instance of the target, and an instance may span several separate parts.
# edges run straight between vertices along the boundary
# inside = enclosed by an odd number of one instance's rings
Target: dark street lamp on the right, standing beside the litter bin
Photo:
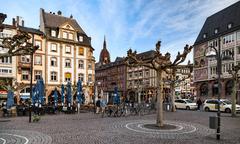
[[[217,140],[220,140],[220,123],[221,123],[221,112],[220,112],[220,97],[221,97],[221,85],[220,85],[220,79],[221,79],[221,73],[222,73],[222,60],[229,60],[232,59],[231,57],[225,56],[221,54],[220,50],[220,44],[221,44],[221,39],[218,38],[218,47],[214,47],[210,45],[210,49],[206,49],[204,54],[207,58],[215,58],[217,60],[217,75],[218,75],[218,111],[217,111],[217,135],[216,138]],[[232,53],[229,50],[226,50],[229,53]]]

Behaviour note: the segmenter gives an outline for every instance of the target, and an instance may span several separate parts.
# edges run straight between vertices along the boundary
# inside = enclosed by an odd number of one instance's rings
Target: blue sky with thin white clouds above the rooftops
[[[39,10],[62,11],[79,22],[92,37],[94,56],[99,61],[104,35],[111,61],[126,56],[132,48],[138,52],[155,49],[172,59],[185,44],[192,45],[206,18],[239,0],[0,0],[0,12],[12,18],[23,17],[25,26],[38,28]],[[192,61],[192,55],[188,57]]]

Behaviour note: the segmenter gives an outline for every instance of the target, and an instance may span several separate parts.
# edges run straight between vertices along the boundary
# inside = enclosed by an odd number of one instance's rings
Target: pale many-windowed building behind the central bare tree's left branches
[[[139,53],[144,61],[150,60],[154,56],[154,51]],[[166,85],[164,85],[164,90]],[[127,68],[127,96],[130,101],[141,102],[149,97],[156,96],[157,73],[154,69],[144,66]]]

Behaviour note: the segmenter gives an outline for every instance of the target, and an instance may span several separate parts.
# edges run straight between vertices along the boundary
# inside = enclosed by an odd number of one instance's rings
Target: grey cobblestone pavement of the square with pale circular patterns
[[[0,122],[0,144],[240,144],[239,115],[232,118],[222,114],[220,141],[216,140],[216,131],[208,128],[214,112],[178,110],[164,116],[164,122],[176,129],[144,127],[155,123],[155,114],[104,118],[93,113],[58,114],[42,116],[37,123],[28,123],[28,117],[14,117]]]

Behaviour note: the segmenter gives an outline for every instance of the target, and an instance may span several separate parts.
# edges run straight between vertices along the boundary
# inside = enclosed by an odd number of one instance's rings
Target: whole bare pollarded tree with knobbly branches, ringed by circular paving
[[[170,60],[170,53],[166,53],[163,55],[160,52],[161,41],[156,43],[156,49],[154,56],[151,60],[144,61],[141,57],[137,55],[137,52],[132,52],[131,49],[127,52],[127,57],[125,58],[125,62],[128,66],[136,67],[136,66],[145,66],[150,69],[154,69],[157,73],[157,120],[156,124],[159,127],[163,127],[163,72],[169,73],[169,69],[175,67],[176,65],[181,64],[185,61],[187,55],[191,52],[192,46],[186,45],[184,47],[184,51],[181,54],[178,52],[178,55],[174,62]]]

